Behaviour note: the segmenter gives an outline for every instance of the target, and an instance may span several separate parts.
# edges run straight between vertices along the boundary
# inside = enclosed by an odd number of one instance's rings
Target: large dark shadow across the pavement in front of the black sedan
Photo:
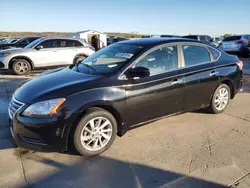
[[[22,158],[24,164],[26,160],[28,161],[25,164],[26,172],[30,170],[28,173],[30,176],[26,176],[27,187],[226,187],[188,175],[104,156],[79,157],[79,160],[74,163],[71,160],[66,163],[60,159],[55,161],[36,155],[36,153],[24,155]],[[44,165],[47,169],[54,170],[33,171],[28,164]],[[31,172],[35,174],[31,175]]]

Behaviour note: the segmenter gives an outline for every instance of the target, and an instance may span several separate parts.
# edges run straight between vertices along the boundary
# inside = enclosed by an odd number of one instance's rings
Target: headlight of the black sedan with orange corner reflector
[[[66,99],[52,99],[47,101],[38,102],[35,104],[30,105],[24,112],[22,113],[23,116],[51,116],[56,114],[56,110],[61,106],[61,104]]]

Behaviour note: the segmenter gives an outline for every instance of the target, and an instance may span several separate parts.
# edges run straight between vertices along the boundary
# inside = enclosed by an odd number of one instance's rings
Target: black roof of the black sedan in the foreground
[[[133,45],[141,45],[141,46],[156,46],[165,43],[172,43],[172,42],[196,42],[202,43],[197,40],[193,39],[186,39],[186,38],[141,38],[141,39],[134,39],[134,40],[125,40],[118,42],[118,44],[133,44]],[[202,43],[204,44],[204,43]]]

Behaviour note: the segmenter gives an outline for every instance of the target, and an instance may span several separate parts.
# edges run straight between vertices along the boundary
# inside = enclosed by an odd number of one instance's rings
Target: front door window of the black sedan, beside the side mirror
[[[136,67],[146,67],[150,75],[172,71],[178,68],[178,53],[176,46],[157,49],[142,58]]]

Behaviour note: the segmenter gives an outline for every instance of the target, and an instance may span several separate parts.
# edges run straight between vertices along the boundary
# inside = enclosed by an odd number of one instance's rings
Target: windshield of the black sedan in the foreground
[[[132,44],[113,44],[107,46],[81,63],[72,67],[72,70],[84,74],[109,74],[123,67],[134,55],[143,50],[143,46]]]

